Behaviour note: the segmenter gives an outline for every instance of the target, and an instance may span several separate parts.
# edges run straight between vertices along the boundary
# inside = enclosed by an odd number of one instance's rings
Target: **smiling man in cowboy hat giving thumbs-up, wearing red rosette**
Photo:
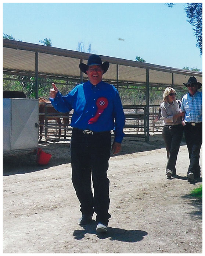
[[[121,150],[125,116],[118,91],[113,85],[102,81],[109,62],[102,64],[98,55],[91,55],[87,65],[81,63],[80,70],[89,81],[77,85],[68,95],[62,96],[53,83],[50,101],[59,112],[74,110],[71,126],[72,182],[80,201],[82,217],[80,225],[92,220],[95,212],[97,232],[107,232],[109,209],[108,160],[111,151],[111,133],[115,134],[112,151]],[[91,177],[94,196],[91,191]]]

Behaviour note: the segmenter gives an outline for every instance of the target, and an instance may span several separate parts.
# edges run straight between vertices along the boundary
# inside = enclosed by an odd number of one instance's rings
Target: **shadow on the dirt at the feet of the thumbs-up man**
[[[92,220],[90,224],[83,227],[81,230],[75,230],[73,236],[75,239],[80,240],[85,237],[85,234],[97,234],[96,233],[96,221]],[[139,242],[148,233],[142,230],[126,230],[121,228],[112,228],[108,226],[108,232],[97,234],[99,239],[108,238],[111,241],[117,240],[121,242]]]

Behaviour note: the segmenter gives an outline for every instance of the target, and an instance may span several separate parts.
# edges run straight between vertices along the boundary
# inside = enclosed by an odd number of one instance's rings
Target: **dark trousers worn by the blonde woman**
[[[173,175],[175,175],[177,155],[183,137],[183,126],[172,127],[172,129],[163,127],[162,137],[165,142],[168,158],[166,168],[172,171]]]

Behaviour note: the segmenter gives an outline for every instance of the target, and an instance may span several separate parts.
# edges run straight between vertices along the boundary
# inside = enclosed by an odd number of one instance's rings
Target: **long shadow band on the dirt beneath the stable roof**
[[[113,138],[112,138],[113,140]],[[181,145],[185,143],[182,141]],[[21,153],[14,155],[4,155],[3,156],[3,175],[13,175],[13,174],[23,174],[29,172],[40,171],[43,169],[50,168],[52,166],[58,166],[62,164],[69,164],[71,162],[70,158],[70,142],[60,141],[60,142],[39,142],[39,148],[44,152],[50,153],[52,155],[50,162],[47,165],[40,166],[36,163],[36,154]],[[122,149],[119,154],[113,155],[115,157],[118,155],[133,154],[136,152],[156,150],[159,148],[165,148],[164,142],[161,134],[155,134],[150,136],[150,141],[145,142],[144,138],[130,138],[125,137],[122,141]]]

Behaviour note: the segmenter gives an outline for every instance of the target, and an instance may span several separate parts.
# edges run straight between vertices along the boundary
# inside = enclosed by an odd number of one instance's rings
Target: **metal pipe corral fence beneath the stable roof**
[[[39,124],[43,126],[42,136],[45,137],[46,141],[70,141],[72,127],[70,126],[72,113],[69,113],[69,125],[65,125],[63,122],[64,118],[68,118],[64,113],[51,113],[47,109],[52,105],[50,103],[39,103],[45,105],[45,113],[39,113],[39,117],[44,115],[44,123]],[[149,129],[147,126],[147,106],[146,105],[123,105],[123,110],[125,113],[125,126],[124,133],[125,137],[139,137],[144,138],[145,141],[148,141],[148,132],[149,135],[162,133],[162,120],[154,122],[156,116],[158,115],[159,105],[150,105],[149,106]],[[56,121],[56,118],[61,119],[59,124]],[[60,134],[59,134],[60,131]],[[111,131],[112,136],[114,133]],[[40,136],[40,134],[39,134]]]

